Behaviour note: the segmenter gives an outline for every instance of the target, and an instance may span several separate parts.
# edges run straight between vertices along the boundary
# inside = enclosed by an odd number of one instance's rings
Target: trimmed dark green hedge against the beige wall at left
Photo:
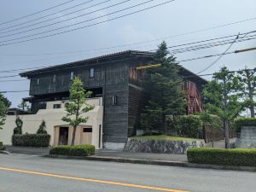
[[[15,134],[12,137],[14,146],[48,147],[50,135],[48,134]]]

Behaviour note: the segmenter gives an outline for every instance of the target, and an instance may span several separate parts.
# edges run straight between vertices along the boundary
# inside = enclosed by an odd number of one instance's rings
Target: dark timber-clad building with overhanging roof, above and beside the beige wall
[[[79,76],[93,96],[103,98],[103,141],[124,143],[127,137],[136,134],[146,98],[141,87],[144,72],[134,68],[153,63],[153,57],[151,52],[128,50],[20,73],[20,76],[31,79],[32,113],[45,108],[47,101],[67,99],[73,77]],[[180,75],[198,84],[199,89],[206,83],[184,68]]]

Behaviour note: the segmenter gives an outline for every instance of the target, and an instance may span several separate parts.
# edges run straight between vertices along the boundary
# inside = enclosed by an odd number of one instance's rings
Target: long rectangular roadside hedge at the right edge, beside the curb
[[[189,148],[189,163],[219,166],[256,166],[256,148]]]

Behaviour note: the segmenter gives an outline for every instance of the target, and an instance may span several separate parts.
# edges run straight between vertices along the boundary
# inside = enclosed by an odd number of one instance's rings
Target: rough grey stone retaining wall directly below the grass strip
[[[188,148],[201,148],[204,141],[164,141],[128,139],[125,152],[156,153],[156,154],[186,154]]]

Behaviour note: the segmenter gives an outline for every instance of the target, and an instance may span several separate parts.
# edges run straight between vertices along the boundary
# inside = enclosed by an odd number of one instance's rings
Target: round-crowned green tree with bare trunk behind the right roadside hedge
[[[240,90],[241,83],[227,67],[222,67],[218,73],[214,73],[213,80],[203,90],[207,110],[217,114],[223,121],[225,148],[230,148],[230,122],[241,112],[241,103],[238,101]]]

